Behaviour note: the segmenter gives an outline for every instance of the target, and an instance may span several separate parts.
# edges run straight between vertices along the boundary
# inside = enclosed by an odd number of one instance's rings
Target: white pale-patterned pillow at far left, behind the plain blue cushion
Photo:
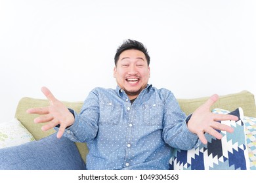
[[[32,134],[16,119],[0,123],[0,148],[35,141]]]

